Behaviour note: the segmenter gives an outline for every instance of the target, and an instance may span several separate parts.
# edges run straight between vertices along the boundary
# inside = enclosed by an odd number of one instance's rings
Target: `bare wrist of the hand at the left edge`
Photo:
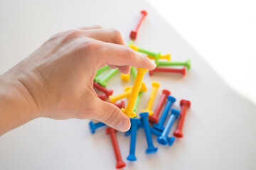
[[[7,77],[0,75],[0,136],[38,118],[29,95],[18,82]]]

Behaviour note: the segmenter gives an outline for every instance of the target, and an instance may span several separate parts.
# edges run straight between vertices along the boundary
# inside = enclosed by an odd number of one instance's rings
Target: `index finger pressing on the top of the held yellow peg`
[[[155,69],[156,64],[149,60],[148,57],[138,52],[134,52],[130,47],[126,45],[117,45],[107,42],[98,42],[98,49],[95,51],[95,55],[100,57],[102,65],[108,64],[121,68],[120,72],[127,72],[127,67],[142,67],[146,69]],[[101,65],[101,66],[102,66]]]

